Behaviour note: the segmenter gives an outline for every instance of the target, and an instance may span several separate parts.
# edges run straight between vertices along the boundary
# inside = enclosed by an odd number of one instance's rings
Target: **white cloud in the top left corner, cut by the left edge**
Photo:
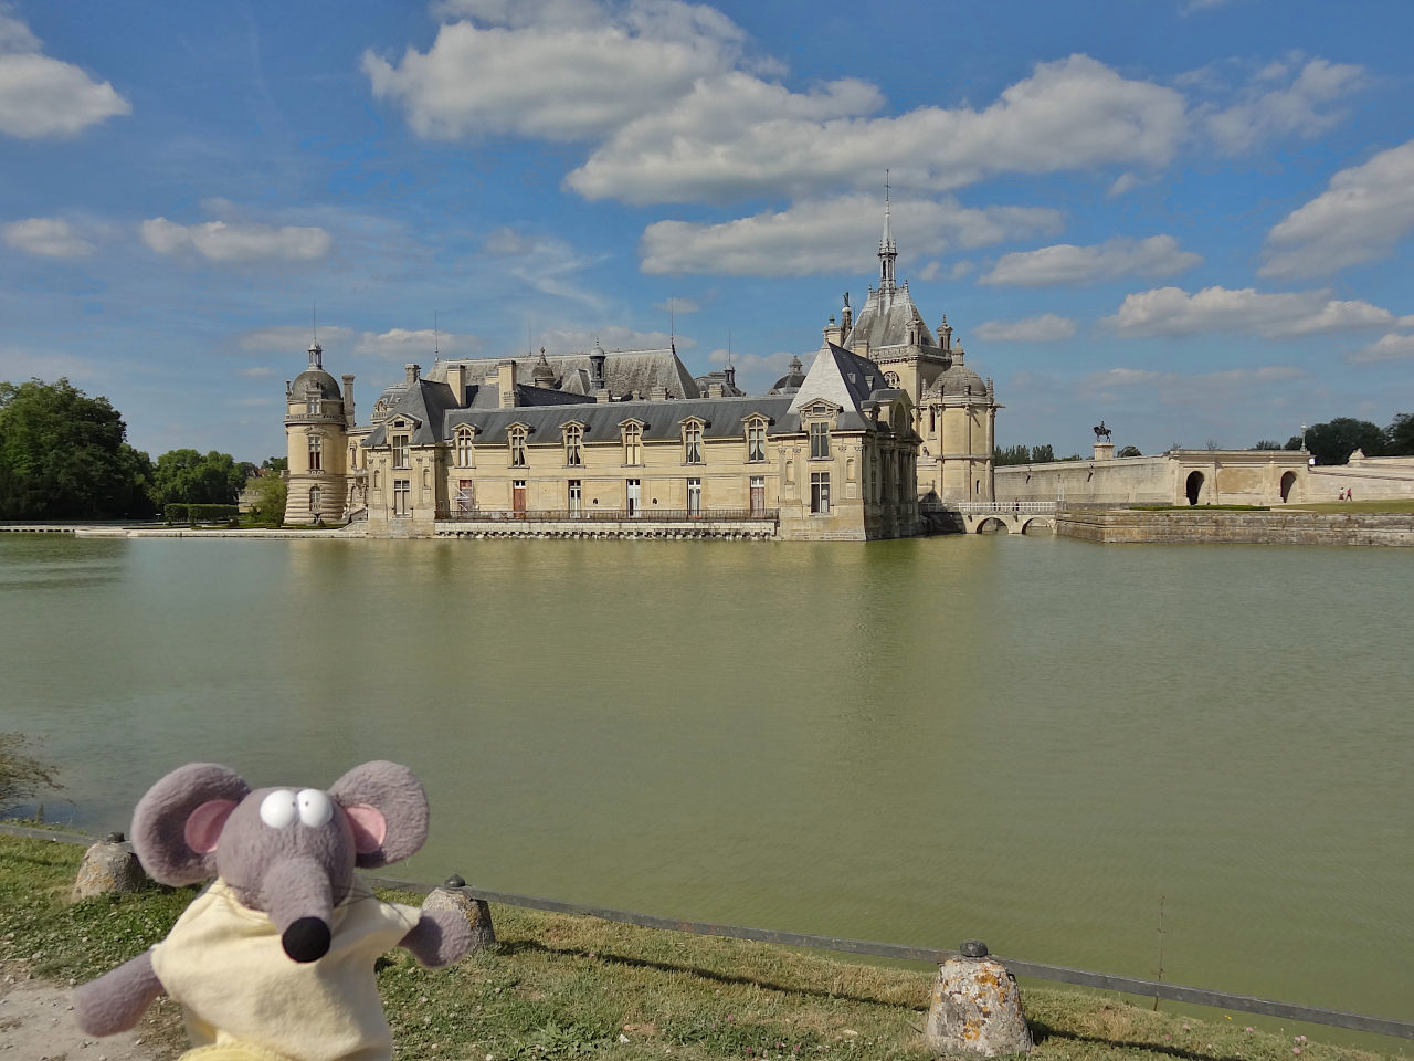
[[[0,133],[74,136],[132,109],[106,81],[41,54],[30,27],[0,7]]]

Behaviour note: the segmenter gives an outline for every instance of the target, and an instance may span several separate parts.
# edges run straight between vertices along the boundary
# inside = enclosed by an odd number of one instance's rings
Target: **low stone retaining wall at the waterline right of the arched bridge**
[[[1103,545],[1414,546],[1414,512],[1069,509],[1056,514],[1056,533]]]

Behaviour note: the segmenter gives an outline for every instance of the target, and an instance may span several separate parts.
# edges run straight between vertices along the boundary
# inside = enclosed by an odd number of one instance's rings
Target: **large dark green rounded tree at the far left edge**
[[[106,398],[64,378],[0,383],[0,518],[148,515],[151,467]]]

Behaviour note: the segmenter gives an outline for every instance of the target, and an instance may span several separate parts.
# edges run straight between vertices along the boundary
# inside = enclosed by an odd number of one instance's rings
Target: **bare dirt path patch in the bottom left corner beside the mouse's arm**
[[[0,976],[0,1061],[167,1061],[167,1043],[148,1038],[146,1024],[93,1038],[74,1023],[71,987],[30,979],[24,970]]]

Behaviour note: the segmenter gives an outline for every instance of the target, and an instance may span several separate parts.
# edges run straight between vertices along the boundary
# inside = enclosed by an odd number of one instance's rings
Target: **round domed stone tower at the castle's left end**
[[[304,372],[284,385],[284,437],[290,457],[284,522],[332,523],[345,512],[349,417],[338,381],[324,371],[324,348],[318,340],[310,344],[308,354]],[[354,382],[354,376],[344,379],[346,385]]]

